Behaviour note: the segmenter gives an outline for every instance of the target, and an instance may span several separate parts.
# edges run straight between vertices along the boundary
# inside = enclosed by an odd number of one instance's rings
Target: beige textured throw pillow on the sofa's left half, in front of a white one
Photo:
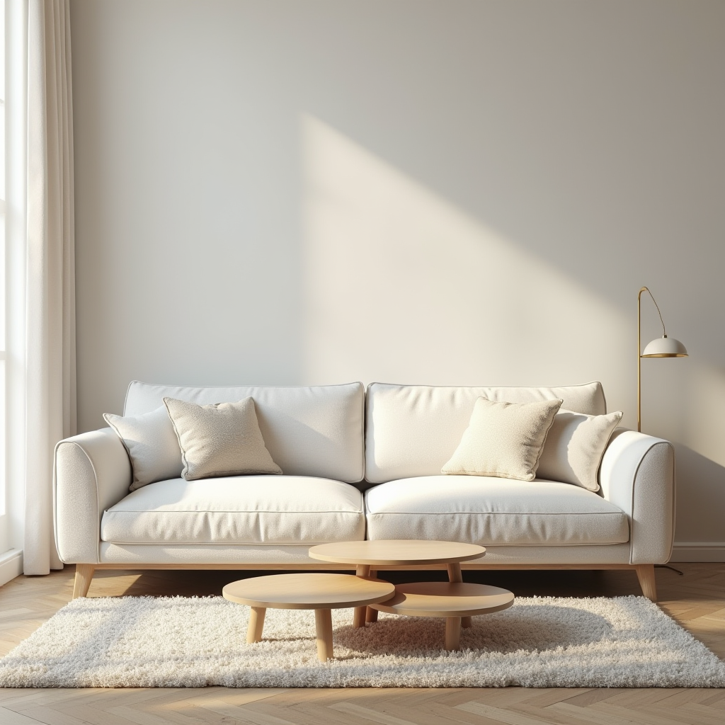
[[[254,400],[196,405],[164,398],[179,446],[187,481],[213,476],[282,473],[265,446]]]

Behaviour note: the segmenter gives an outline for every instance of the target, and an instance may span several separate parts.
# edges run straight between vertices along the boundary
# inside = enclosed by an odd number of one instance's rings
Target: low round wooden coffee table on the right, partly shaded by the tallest
[[[413,617],[445,617],[445,647],[447,650],[460,650],[461,618],[500,612],[508,609],[513,600],[514,596],[508,589],[486,584],[419,581],[398,584],[394,597],[370,607]]]

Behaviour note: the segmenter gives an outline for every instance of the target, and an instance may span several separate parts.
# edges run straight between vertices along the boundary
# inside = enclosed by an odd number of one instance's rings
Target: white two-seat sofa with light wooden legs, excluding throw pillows
[[[598,493],[557,481],[442,476],[477,397],[606,412],[602,386],[502,388],[360,383],[312,387],[130,384],[124,415],[163,397],[199,404],[254,398],[282,476],[149,484],[129,493],[130,461],[112,428],[56,447],[55,534],[76,564],[74,597],[96,569],[342,569],[313,544],[446,539],[483,544],[464,568],[634,568],[655,600],[654,565],[671,555],[674,451],[618,428]],[[364,494],[363,494],[364,492]]]

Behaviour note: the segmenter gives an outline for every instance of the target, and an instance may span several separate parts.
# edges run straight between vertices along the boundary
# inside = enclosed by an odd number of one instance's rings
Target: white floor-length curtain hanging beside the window
[[[62,568],[53,450],[75,434],[72,88],[67,0],[28,1],[25,277],[26,574]]]

